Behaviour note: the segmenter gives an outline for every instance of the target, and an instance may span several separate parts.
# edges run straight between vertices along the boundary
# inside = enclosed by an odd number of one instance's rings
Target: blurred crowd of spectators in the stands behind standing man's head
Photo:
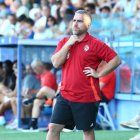
[[[92,15],[94,36],[139,38],[140,0],[0,0],[0,35],[60,39],[71,34],[74,11]]]

